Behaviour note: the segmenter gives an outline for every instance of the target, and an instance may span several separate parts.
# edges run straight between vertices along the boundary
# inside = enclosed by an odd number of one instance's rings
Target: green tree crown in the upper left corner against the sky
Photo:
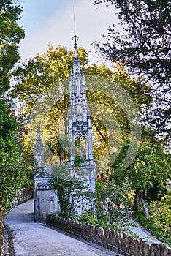
[[[9,89],[12,68],[20,59],[19,42],[24,38],[24,31],[17,24],[22,8],[13,2],[11,0],[0,2],[0,94]]]

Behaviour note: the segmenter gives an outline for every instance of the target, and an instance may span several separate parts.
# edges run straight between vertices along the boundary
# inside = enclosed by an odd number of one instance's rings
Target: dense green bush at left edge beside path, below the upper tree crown
[[[17,123],[0,100],[0,208],[7,210],[22,187],[31,185],[33,166],[18,145]]]

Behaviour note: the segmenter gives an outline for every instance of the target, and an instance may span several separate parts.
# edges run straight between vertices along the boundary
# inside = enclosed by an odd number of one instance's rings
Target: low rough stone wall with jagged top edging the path
[[[90,225],[88,222],[77,222],[74,219],[58,217],[56,214],[47,214],[46,224],[74,233],[123,256],[171,256],[171,249],[165,244],[151,243],[141,238],[133,239],[116,233],[115,230],[104,230],[99,225]]]

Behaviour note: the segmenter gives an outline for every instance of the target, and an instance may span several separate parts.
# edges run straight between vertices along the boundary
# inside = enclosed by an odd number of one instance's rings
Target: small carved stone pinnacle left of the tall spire
[[[37,125],[37,141],[34,146],[34,157],[37,167],[44,166],[44,145],[42,144],[40,125]]]

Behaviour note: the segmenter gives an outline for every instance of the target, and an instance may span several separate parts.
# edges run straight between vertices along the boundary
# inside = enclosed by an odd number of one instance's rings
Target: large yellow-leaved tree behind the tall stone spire
[[[88,105],[96,133],[94,156],[98,160],[106,151],[109,141],[115,140],[113,146],[116,147],[117,141],[121,142],[125,136],[121,133],[125,132],[129,135],[130,120],[124,110],[130,109],[129,98],[134,102],[136,114],[140,111],[141,105],[149,104],[151,102],[149,85],[141,88],[140,81],[130,78],[120,64],[115,67],[113,64],[112,69],[104,65],[88,66],[88,53],[83,48],[78,48],[78,53],[85,71]],[[56,141],[57,131],[58,135],[67,135],[69,80],[66,78],[69,77],[73,56],[72,50],[66,50],[63,46],[54,48],[53,45],[49,45],[47,53],[42,56],[37,54],[14,72],[18,80],[14,93],[24,102],[28,113],[31,111],[34,121],[41,116],[43,120],[41,127],[42,129],[45,127],[48,132],[47,140]],[[116,94],[120,94],[118,99]],[[126,95],[127,99],[125,99]]]

